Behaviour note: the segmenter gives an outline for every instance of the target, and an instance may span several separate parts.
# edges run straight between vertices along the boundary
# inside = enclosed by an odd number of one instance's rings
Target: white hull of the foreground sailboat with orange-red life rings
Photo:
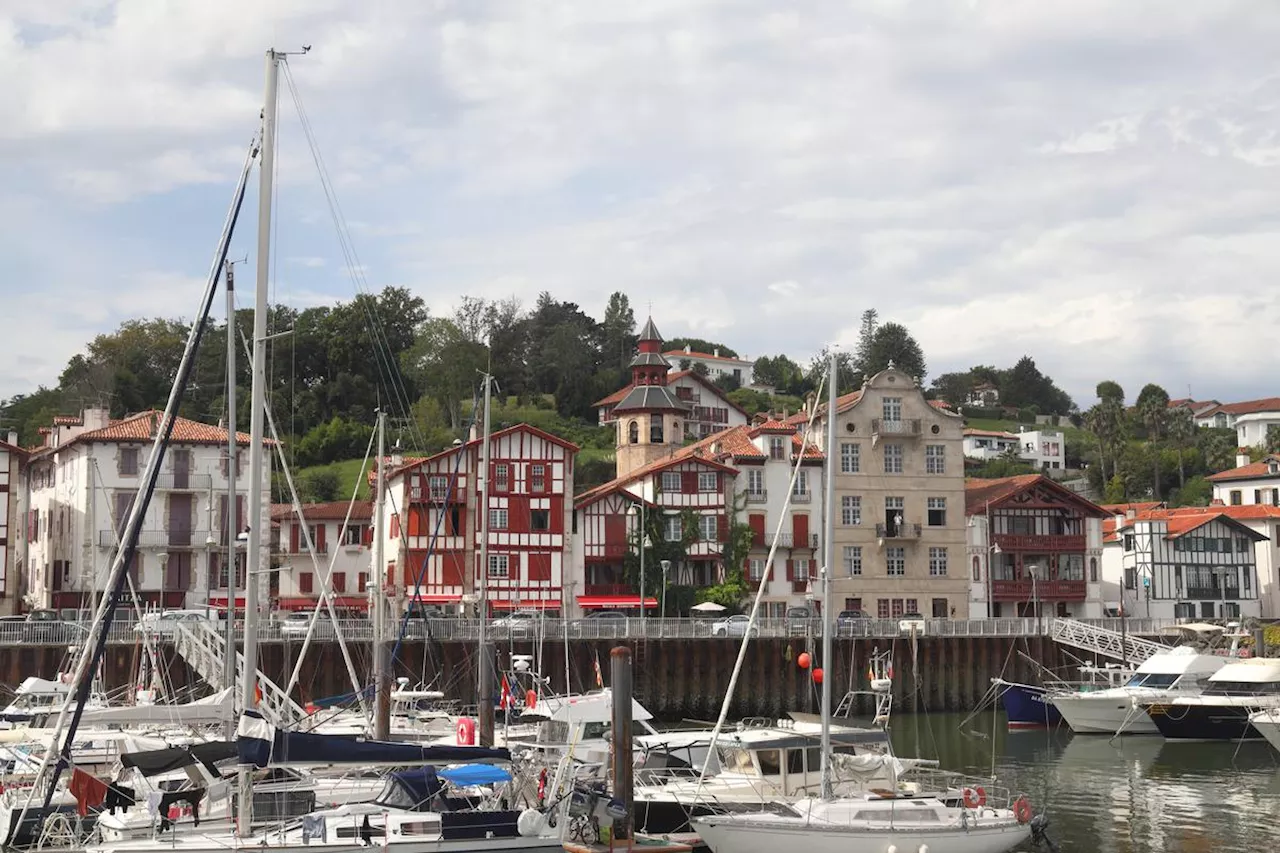
[[[938,829],[868,829],[847,825],[809,824],[804,820],[723,821],[698,818],[699,836],[712,853],[777,853],[803,849],[805,853],[884,853],[899,850],[931,850],[946,853],[1006,853],[1030,839],[1030,827],[1010,824],[1001,827],[963,830]]]

